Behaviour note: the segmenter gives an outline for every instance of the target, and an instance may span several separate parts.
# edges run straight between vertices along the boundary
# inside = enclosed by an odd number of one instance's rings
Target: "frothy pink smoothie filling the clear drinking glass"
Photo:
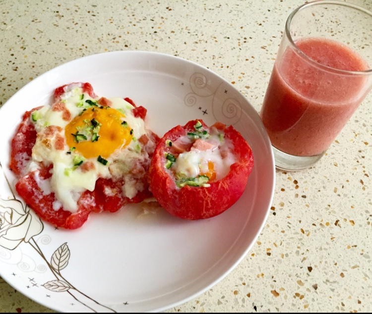
[[[369,69],[358,54],[334,41],[310,38],[296,45],[332,68]],[[295,156],[323,153],[364,98],[364,83],[365,77],[324,71],[287,49],[275,62],[260,112],[272,145]]]

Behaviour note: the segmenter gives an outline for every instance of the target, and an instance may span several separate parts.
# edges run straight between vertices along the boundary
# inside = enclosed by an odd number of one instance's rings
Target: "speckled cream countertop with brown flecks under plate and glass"
[[[0,0],[0,106],[44,72],[100,52],[199,63],[259,111],[284,23],[302,0]],[[353,0],[372,10],[371,0]],[[320,161],[276,171],[267,221],[239,265],[167,312],[372,312],[372,93]],[[0,277],[0,312],[51,312]]]

